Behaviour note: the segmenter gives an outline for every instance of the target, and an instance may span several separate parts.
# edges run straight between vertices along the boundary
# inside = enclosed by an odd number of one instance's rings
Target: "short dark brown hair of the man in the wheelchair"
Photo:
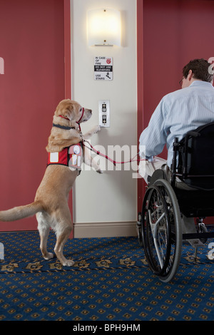
[[[213,82],[213,74],[209,73],[210,63],[203,58],[193,59],[183,68],[183,77],[187,78],[190,70],[193,71],[193,78],[200,81],[208,81],[208,83]]]

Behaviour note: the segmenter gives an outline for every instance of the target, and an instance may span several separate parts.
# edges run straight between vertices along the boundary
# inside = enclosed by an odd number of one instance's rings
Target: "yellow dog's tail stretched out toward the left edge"
[[[0,221],[15,221],[25,217],[31,217],[37,212],[44,210],[40,201],[32,202],[29,205],[11,208],[11,210],[0,211]]]

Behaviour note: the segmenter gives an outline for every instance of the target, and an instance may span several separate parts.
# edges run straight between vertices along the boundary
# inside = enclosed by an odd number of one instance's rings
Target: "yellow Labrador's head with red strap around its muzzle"
[[[68,118],[75,123],[89,120],[91,114],[91,109],[83,108],[79,103],[70,99],[61,100],[54,113],[56,116],[63,116],[63,118]]]

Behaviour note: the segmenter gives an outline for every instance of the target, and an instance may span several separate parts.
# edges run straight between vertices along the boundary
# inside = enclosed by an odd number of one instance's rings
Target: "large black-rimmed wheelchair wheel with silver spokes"
[[[180,264],[182,231],[178,201],[166,180],[156,180],[146,191],[142,234],[149,267],[162,282],[169,282]]]

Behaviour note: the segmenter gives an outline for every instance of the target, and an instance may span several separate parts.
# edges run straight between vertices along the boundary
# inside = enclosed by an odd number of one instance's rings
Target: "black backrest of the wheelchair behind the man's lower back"
[[[177,150],[180,179],[190,187],[214,190],[214,122],[189,131]]]

